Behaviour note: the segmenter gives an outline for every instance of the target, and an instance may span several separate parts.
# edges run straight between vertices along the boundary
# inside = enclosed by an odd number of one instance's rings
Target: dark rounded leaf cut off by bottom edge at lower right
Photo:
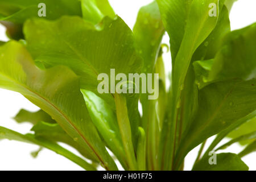
[[[199,160],[193,167],[193,171],[248,171],[249,167],[232,153],[221,153],[216,155],[217,164],[209,164],[208,158]]]

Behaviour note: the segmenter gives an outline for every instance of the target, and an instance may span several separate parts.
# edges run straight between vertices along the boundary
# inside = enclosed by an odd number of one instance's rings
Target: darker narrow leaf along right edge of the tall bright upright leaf
[[[205,39],[204,42],[201,43],[201,45],[196,49],[195,53],[193,53],[192,61],[213,58],[217,53],[218,49],[220,49],[223,36],[230,31],[228,10],[226,9],[226,6],[222,6],[222,1],[220,1],[220,8],[221,7],[222,9],[220,9],[220,14],[216,26],[214,27],[213,31],[209,34],[207,39]],[[189,132],[188,128],[190,125],[192,125],[192,121],[197,112],[198,88],[197,85],[195,85],[195,82],[197,84],[200,83],[198,80],[203,78],[204,74],[207,73],[205,69],[208,69],[210,65],[210,63],[205,63],[201,61],[205,64],[199,67],[199,71],[194,71],[192,67],[192,61],[191,65],[189,65],[188,72],[184,82],[184,88],[181,93],[181,106],[179,113],[180,120],[177,122],[177,131],[179,131],[177,134],[178,143],[180,140],[179,138],[181,138],[181,135],[185,135],[186,132]]]

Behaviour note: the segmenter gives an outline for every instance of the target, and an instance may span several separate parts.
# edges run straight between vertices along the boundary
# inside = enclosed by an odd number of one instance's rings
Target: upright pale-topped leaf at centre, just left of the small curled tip
[[[137,21],[133,28],[135,47],[139,55],[143,58],[143,73],[154,73],[156,61],[161,57],[159,54],[162,54],[160,53],[160,44],[164,31],[158,4],[154,1],[147,6],[143,6],[139,10]],[[163,81],[164,80],[162,80],[162,86],[165,85]],[[161,91],[162,90],[161,88]],[[141,126],[146,133],[146,158],[150,160],[150,162],[148,162],[148,168],[153,169],[156,168],[157,162],[156,159],[153,159],[151,156],[157,155],[157,131],[159,133],[159,121],[156,118],[156,101],[148,100],[148,94],[141,94],[140,101],[143,112]]]

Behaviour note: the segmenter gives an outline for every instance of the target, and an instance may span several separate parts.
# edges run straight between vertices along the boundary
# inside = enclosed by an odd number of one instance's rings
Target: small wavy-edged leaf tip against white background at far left
[[[18,123],[30,122],[33,125],[40,121],[44,121],[47,123],[56,123],[49,114],[44,112],[43,110],[39,110],[36,112],[27,111],[21,109],[19,113],[14,117],[15,121]]]

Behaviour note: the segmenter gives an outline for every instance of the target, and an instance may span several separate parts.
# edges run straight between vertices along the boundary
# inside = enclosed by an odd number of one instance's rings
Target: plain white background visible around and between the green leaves
[[[109,0],[117,13],[130,28],[133,28],[137,18],[138,10],[141,6],[152,2],[151,0]],[[256,22],[256,1],[255,0],[238,0],[234,3],[230,13],[230,22],[232,30],[248,26]],[[0,40],[7,41],[5,36],[5,28],[0,26]],[[164,43],[169,42],[168,35],[164,36]],[[170,71],[171,60],[170,52],[164,53],[166,68]],[[8,90],[0,89],[0,126],[13,129],[20,133],[27,133],[31,129],[31,125],[24,123],[18,125],[12,117],[21,109],[30,111],[38,110],[38,107],[31,104],[23,96]],[[207,146],[213,137],[208,140]],[[221,143],[225,143],[225,139]],[[55,154],[55,152],[44,149],[40,152],[38,158],[34,159],[30,155],[31,151],[38,150],[38,146],[21,142],[1,140],[0,141],[0,170],[82,170],[81,167],[72,163],[63,156]],[[185,159],[185,169],[190,170],[195,161],[199,147],[192,150]],[[242,147],[233,144],[226,150],[221,152],[240,152]],[[74,151],[76,152],[76,151]],[[76,153],[77,154],[77,153]],[[247,155],[242,160],[249,166],[250,170],[256,170],[256,153]]]

